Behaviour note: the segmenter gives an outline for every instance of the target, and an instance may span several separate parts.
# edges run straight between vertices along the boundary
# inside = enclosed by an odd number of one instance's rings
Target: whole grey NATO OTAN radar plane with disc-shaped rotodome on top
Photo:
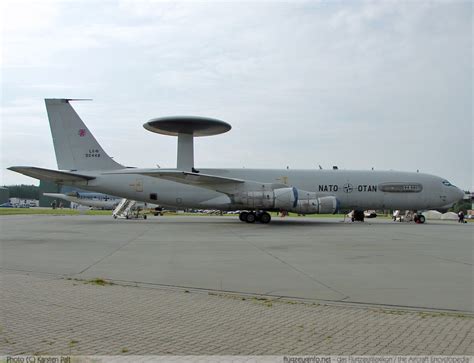
[[[463,197],[446,179],[414,172],[196,168],[194,137],[224,133],[231,126],[194,116],[157,118],[143,125],[149,131],[178,137],[176,169],[125,167],[107,155],[70,101],[45,100],[59,170],[31,166],[10,170],[178,209],[241,210],[240,220],[248,223],[269,223],[270,211],[421,211],[446,208]],[[421,214],[417,218],[424,222]]]

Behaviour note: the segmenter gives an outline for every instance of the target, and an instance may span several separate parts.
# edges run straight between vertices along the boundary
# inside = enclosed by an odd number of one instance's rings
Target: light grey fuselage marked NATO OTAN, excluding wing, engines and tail
[[[81,188],[175,208],[220,210],[246,209],[232,203],[226,194],[140,175],[156,169],[82,171],[95,179],[78,183]],[[356,170],[199,169],[202,174],[280,183],[318,197],[334,196],[340,209],[445,208],[462,198],[463,192],[444,179],[423,173]],[[136,173],[136,174],[135,174]],[[155,199],[156,198],[156,199]]]

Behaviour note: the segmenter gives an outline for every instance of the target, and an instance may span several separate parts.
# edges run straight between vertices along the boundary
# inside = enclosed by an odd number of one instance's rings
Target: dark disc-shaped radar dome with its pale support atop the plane
[[[178,137],[176,167],[179,170],[198,172],[194,169],[194,137],[219,135],[231,129],[221,120],[197,116],[171,116],[154,118],[143,125],[145,129],[162,135]]]

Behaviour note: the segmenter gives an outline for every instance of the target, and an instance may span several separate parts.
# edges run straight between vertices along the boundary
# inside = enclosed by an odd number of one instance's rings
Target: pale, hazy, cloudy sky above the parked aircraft
[[[56,169],[44,98],[116,161],[176,167],[151,118],[232,125],[199,167],[405,170],[473,188],[470,1],[22,1],[1,13],[0,184]]]

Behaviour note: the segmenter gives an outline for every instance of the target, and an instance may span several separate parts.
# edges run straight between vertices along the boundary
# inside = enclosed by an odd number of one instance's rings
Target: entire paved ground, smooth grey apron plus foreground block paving
[[[472,225],[0,223],[0,354],[474,354]]]

